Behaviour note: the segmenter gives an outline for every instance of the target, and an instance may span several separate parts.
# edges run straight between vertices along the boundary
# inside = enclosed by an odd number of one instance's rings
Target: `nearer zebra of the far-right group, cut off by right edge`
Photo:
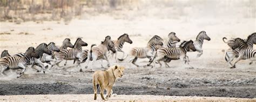
[[[248,42],[248,40],[247,40]],[[231,69],[235,68],[235,64],[239,62],[239,60],[250,59],[251,61],[256,60],[256,50],[250,49],[246,42],[241,38],[235,38],[234,44],[230,46],[233,50],[239,49],[238,58],[235,59],[234,63],[230,67]]]

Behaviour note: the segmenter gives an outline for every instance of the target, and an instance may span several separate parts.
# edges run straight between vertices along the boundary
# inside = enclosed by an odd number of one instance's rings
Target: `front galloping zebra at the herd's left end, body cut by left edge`
[[[6,56],[0,59],[0,66],[2,67],[2,74],[6,76],[4,73],[7,70],[17,70],[22,69],[17,78],[21,77],[25,70],[26,66],[30,63],[32,58],[39,58],[40,56],[36,53],[34,47],[29,47],[26,50],[23,57],[14,57],[14,56]]]

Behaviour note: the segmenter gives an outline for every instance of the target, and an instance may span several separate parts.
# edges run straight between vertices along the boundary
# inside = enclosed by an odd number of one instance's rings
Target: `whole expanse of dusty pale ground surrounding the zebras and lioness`
[[[179,100],[191,97],[164,97],[164,96],[204,96],[206,99],[223,99],[214,97],[256,97],[256,67],[255,63],[242,60],[236,69],[228,69],[224,59],[224,51],[228,46],[223,43],[222,37],[246,38],[256,31],[255,19],[245,18],[223,18],[223,19],[156,19],[138,18],[129,20],[113,19],[111,17],[99,16],[93,19],[75,19],[69,25],[57,22],[26,22],[14,24],[1,22],[0,32],[10,32],[10,35],[0,35],[0,51],[8,50],[9,53],[24,52],[29,46],[36,47],[41,43],[55,42],[62,44],[65,38],[71,38],[75,43],[77,37],[89,44],[99,44],[105,36],[110,35],[117,39],[123,33],[128,33],[133,44],[125,44],[124,51],[127,53],[131,47],[143,47],[153,35],[159,35],[166,39],[168,33],[176,32],[182,40],[195,39],[197,34],[205,30],[211,37],[211,41],[205,41],[203,45],[204,54],[197,58],[197,52],[189,52],[190,64],[194,69],[188,69],[181,60],[169,63],[169,68],[154,68],[145,66],[148,59],[138,59],[140,67],[130,63],[116,63],[113,59],[111,65],[124,65],[125,76],[116,81],[113,92],[117,94],[134,95],[158,95],[150,96],[156,99]],[[246,28],[244,26],[247,26]],[[14,30],[14,31],[12,31]],[[21,32],[27,32],[26,35]],[[89,49],[89,46],[83,49]],[[119,57],[120,57],[120,53]],[[62,62],[60,65],[63,65]],[[92,73],[100,68],[100,61],[93,67],[85,69],[74,67],[72,61],[67,66],[53,67],[45,74],[36,73],[28,69],[24,76],[16,79],[15,72],[9,72],[10,76],[0,77],[0,95],[24,95],[24,94],[92,94]],[[106,62],[104,61],[104,66]],[[83,72],[79,72],[82,68]],[[75,100],[84,100],[91,95],[57,95],[56,96],[24,96],[24,98],[43,98],[49,100],[72,100],[65,96],[79,97]],[[1,99],[21,99],[23,96],[1,96]],[[131,98],[132,97],[132,98]],[[133,98],[136,97],[136,98]],[[159,98],[160,97],[160,98]],[[209,98],[210,97],[210,98]],[[113,100],[140,100],[149,98],[147,96],[120,96]],[[174,99],[172,99],[174,98]],[[237,98],[227,98],[235,100]],[[89,99],[89,100],[90,100]],[[192,99],[204,99],[202,97]]]

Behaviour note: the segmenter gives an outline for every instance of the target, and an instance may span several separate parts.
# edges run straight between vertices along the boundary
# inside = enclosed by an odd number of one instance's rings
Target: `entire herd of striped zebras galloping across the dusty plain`
[[[231,49],[226,51],[225,59],[230,65],[231,68],[235,67],[235,64],[241,59],[251,59],[255,60],[256,51],[252,49],[253,44],[256,44],[256,33],[252,33],[252,35],[248,36],[247,39],[235,38],[225,41],[225,37],[223,41],[227,43]],[[4,73],[7,70],[17,70],[21,69],[21,72],[17,76],[17,78],[21,77],[28,65],[32,65],[31,68],[35,69],[37,72],[45,73],[45,69],[50,70],[51,67],[57,65],[63,60],[73,60],[73,64],[76,63],[76,67],[80,66],[80,64],[84,63],[87,59],[87,63],[85,68],[89,66],[91,62],[94,65],[96,60],[101,61],[101,66],[103,67],[103,59],[107,61],[107,66],[110,66],[109,58],[112,56],[116,62],[123,62],[126,60],[127,62],[131,62],[133,65],[137,67],[139,65],[136,64],[138,58],[148,58],[150,66],[155,66],[156,63],[160,64],[160,62],[164,62],[166,67],[170,67],[167,63],[170,63],[171,60],[183,59],[184,64],[188,64],[190,60],[186,55],[187,52],[197,51],[199,52],[197,57],[200,57],[203,54],[203,43],[204,40],[211,40],[210,37],[206,35],[205,31],[199,32],[196,40],[188,40],[180,42],[180,39],[176,36],[176,33],[171,32],[168,35],[168,40],[164,42],[164,40],[155,35],[153,36],[146,47],[133,47],[127,56],[125,56],[124,51],[122,50],[125,42],[132,44],[132,40],[129,38],[129,35],[124,33],[124,35],[120,36],[117,40],[111,40],[110,36],[106,36],[105,40],[101,42],[98,46],[95,44],[91,45],[91,49],[82,50],[83,46],[87,46],[82,38],[77,38],[75,44],[71,44],[70,39],[64,39],[62,46],[57,47],[55,43],[51,42],[49,44],[42,43],[39,44],[36,48],[29,47],[25,53],[16,53],[15,55],[10,55],[7,50],[4,50],[0,59],[0,67],[2,69],[2,74],[6,76]],[[70,49],[68,49],[70,47]],[[122,58],[117,58],[116,52],[122,52]],[[237,58],[233,64],[231,64],[232,60]],[[252,62],[250,63],[252,64]],[[41,67],[40,70],[37,70],[34,66]],[[190,65],[189,65],[190,66]],[[192,66],[191,66],[192,67]],[[82,69],[80,69],[81,71]]]

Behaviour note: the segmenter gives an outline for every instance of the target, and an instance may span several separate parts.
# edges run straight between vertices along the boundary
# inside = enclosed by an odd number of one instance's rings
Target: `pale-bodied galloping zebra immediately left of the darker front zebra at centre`
[[[130,51],[130,56],[132,57],[132,60],[129,60],[129,62],[132,61],[133,65],[139,67],[139,65],[136,64],[138,58],[149,58],[150,60],[152,60],[153,53],[154,51],[156,51],[156,45],[163,45],[163,39],[157,35],[153,36],[149,40],[146,47],[133,47],[132,50]],[[127,57],[128,56],[118,60],[123,61]]]

